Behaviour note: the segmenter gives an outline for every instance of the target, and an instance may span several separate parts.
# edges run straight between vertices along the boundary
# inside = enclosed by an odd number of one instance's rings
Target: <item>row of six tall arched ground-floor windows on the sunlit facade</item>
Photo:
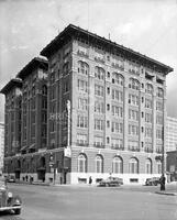
[[[103,156],[97,155],[95,158],[95,170],[96,173],[103,173]],[[162,163],[159,161],[156,162],[157,173],[162,172]],[[88,172],[88,158],[85,154],[80,154],[78,156],[78,172],[87,173]],[[112,173],[113,174],[123,174],[123,158],[121,156],[115,156],[112,160]],[[153,162],[151,158],[146,158],[145,161],[145,170],[146,174],[153,173]],[[132,157],[129,161],[129,173],[130,174],[139,174],[140,173],[140,162],[136,157]]]

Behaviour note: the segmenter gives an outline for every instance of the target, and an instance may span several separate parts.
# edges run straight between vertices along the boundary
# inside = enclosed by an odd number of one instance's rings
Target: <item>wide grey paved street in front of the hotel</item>
[[[176,220],[177,196],[159,187],[9,185],[23,199],[22,213],[2,220]]]

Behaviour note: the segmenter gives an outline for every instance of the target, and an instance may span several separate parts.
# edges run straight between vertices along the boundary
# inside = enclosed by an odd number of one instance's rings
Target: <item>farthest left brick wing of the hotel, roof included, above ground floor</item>
[[[21,88],[20,79],[11,79],[1,90],[5,95],[4,157],[15,155],[21,148]]]

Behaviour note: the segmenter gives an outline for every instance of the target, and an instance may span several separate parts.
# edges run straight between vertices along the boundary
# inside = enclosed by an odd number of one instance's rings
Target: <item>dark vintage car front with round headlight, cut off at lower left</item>
[[[0,211],[12,211],[15,215],[20,215],[21,208],[21,198],[9,191],[5,179],[0,177]]]

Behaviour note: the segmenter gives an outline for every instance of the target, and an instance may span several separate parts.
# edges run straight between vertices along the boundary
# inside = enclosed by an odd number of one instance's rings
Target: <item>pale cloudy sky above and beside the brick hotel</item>
[[[177,0],[0,0],[0,89],[73,23],[173,67],[167,114],[177,118],[176,21]]]

